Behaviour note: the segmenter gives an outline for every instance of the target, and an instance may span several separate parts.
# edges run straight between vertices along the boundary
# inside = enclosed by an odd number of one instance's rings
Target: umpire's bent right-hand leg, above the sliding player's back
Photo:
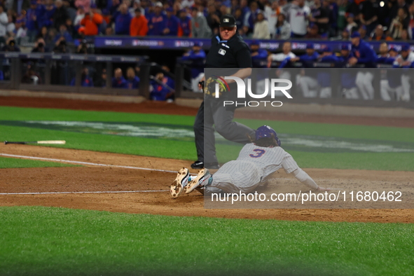
[[[217,106],[213,113],[214,127],[224,138],[242,144],[250,143],[249,137],[254,137],[255,130],[246,125],[233,122],[234,110],[227,110],[224,106]]]

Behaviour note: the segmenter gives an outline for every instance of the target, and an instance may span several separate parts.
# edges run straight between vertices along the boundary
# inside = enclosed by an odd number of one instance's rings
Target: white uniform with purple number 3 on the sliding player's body
[[[249,193],[269,174],[280,168],[288,174],[297,170],[298,164],[280,146],[266,148],[247,144],[236,160],[224,164],[214,175],[212,185],[226,192]]]

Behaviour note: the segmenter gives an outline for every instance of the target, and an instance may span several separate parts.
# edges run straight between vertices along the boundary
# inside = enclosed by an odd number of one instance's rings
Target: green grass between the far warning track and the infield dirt
[[[154,124],[172,124],[191,127],[193,116],[170,116],[158,114],[71,111],[65,109],[31,109],[0,106],[1,120],[81,120],[94,122],[143,122]],[[314,135],[318,137],[338,137],[339,139],[358,139],[377,143],[390,142],[398,145],[408,143],[414,146],[414,129],[403,127],[378,127],[362,125],[336,125],[326,123],[298,123],[270,120],[238,120],[256,128],[263,124],[271,125],[281,134]],[[139,156],[196,160],[195,144],[190,141],[174,139],[152,139],[127,137],[88,132],[48,130],[35,127],[0,125],[1,140],[43,140],[64,139],[67,144],[59,146],[70,149],[126,153]],[[403,170],[414,171],[414,153],[352,153],[317,152],[292,147],[288,143],[282,146],[294,156],[300,167],[356,169],[356,170]],[[241,147],[236,144],[217,144],[217,156],[224,163],[237,158]]]

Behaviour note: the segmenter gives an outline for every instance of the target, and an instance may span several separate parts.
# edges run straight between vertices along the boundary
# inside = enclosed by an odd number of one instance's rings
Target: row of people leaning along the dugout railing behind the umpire
[[[380,81],[380,97],[384,101],[409,102],[414,87],[414,78],[407,69],[414,68],[414,53],[410,44],[403,43],[397,50],[386,42],[380,44],[378,53],[364,41],[359,32],[352,32],[351,43],[343,43],[340,50],[335,51],[331,47],[322,48],[319,53],[313,43],[307,43],[305,53],[298,55],[292,52],[291,42],[286,41],[282,45],[281,53],[271,53],[260,48],[256,40],[249,45],[251,59],[254,68],[277,68],[277,78],[293,81],[303,93],[303,97],[336,97],[336,91],[332,87],[338,85],[340,97],[346,99],[374,99],[375,81]],[[205,60],[205,52],[196,43],[186,53],[182,60],[191,68],[191,80],[193,92],[202,92],[198,88],[198,82],[204,76],[202,64]],[[328,69],[318,68],[318,64]],[[301,74],[292,75],[289,68],[302,68]],[[342,71],[332,71],[333,68],[343,68]],[[375,71],[375,69],[380,71]],[[259,71],[258,83],[255,91],[265,91],[265,78],[270,71]],[[374,77],[375,72],[380,72],[380,78]],[[264,76],[262,76],[264,74]],[[333,74],[338,74],[338,83],[333,85]]]

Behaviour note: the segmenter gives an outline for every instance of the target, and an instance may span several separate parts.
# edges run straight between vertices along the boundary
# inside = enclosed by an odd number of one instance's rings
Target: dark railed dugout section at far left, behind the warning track
[[[0,53],[0,89],[42,92],[75,92],[130,95],[149,98],[150,69],[147,56],[81,55],[53,53]],[[113,70],[132,67],[139,73],[139,89],[113,88]],[[82,85],[82,72],[101,75],[99,85]],[[106,79],[102,76],[106,74]],[[94,83],[97,84],[97,83]]]

